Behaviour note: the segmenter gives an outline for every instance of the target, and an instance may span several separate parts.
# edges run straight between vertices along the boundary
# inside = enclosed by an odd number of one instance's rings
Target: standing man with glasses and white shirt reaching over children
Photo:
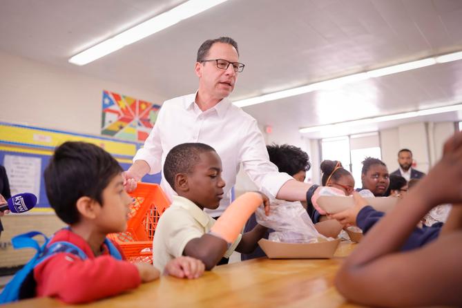
[[[199,77],[196,93],[170,99],[160,109],[154,128],[144,147],[133,157],[132,166],[124,173],[126,189],[131,191],[146,173],[162,171],[164,160],[173,146],[184,142],[209,144],[220,155],[223,165],[224,198],[218,209],[207,211],[212,217],[222,214],[231,202],[240,164],[260,189],[274,197],[306,200],[311,184],[298,182],[280,173],[269,162],[262,133],[253,119],[227,98],[234,89],[244,64],[239,62],[238,44],[229,37],[204,41],[198,50],[195,74]],[[167,195],[175,192],[164,180]]]

